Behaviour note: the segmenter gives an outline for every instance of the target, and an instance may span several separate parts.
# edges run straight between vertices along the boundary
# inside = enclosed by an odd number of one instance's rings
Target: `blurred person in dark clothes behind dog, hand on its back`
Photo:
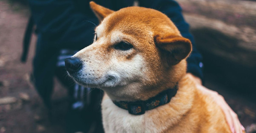
[[[111,10],[133,6],[134,2],[146,8],[156,9],[166,14],[177,26],[181,35],[192,42],[193,51],[187,58],[187,72],[197,80],[199,89],[213,97],[226,114],[226,120],[232,132],[241,132],[242,127],[236,114],[218,93],[204,88],[202,84],[202,56],[197,51],[194,39],[189,32],[179,4],[174,0],[94,0]],[[27,40],[36,25],[37,42],[33,62],[35,88],[45,105],[51,110],[53,77],[68,88],[70,105],[67,116],[67,132],[77,131],[103,132],[100,100],[103,92],[99,89],[85,88],[76,84],[67,76],[65,58],[90,45],[93,41],[94,28],[99,24],[87,0],[29,0],[32,17],[26,32]],[[29,41],[25,41],[26,45]],[[27,46],[24,47],[23,61]]]

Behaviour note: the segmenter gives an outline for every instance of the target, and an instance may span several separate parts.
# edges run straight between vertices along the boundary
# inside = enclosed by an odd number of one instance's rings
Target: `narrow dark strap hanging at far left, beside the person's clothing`
[[[27,23],[25,35],[23,38],[23,51],[21,55],[21,62],[26,62],[27,60],[27,54],[29,52],[29,45],[30,45],[32,31],[33,31],[33,26],[34,26],[34,21],[32,16],[30,16],[29,22]]]

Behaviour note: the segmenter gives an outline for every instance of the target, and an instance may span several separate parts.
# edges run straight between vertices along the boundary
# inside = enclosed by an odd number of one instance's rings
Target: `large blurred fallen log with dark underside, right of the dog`
[[[256,2],[177,0],[203,55],[206,75],[255,91]]]

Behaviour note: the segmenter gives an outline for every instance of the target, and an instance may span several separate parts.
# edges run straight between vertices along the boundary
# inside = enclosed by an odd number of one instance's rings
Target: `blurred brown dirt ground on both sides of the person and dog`
[[[29,11],[25,6],[0,0],[0,99],[9,97],[8,103],[1,103],[0,100],[0,133],[63,133],[68,104],[66,89],[56,82],[53,115],[49,119],[47,110],[29,81],[35,35],[27,62],[20,62],[28,16]],[[215,80],[214,73],[207,73],[205,77],[205,86],[224,96],[245,128],[256,123],[255,97],[226,88]]]

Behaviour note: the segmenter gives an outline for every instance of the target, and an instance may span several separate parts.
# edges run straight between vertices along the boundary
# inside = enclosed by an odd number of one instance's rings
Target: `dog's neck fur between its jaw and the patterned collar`
[[[136,82],[131,83],[129,86],[116,87],[104,89],[112,101],[146,101],[147,99],[156,96],[157,94],[174,88],[182,77],[186,75],[186,61],[181,61],[179,64],[172,66],[168,71],[163,74],[158,84],[145,86],[137,85]],[[177,72],[178,71],[178,72]],[[126,89],[125,94],[118,94],[117,90]],[[140,91],[137,91],[140,90]],[[133,93],[133,91],[136,91]]]

